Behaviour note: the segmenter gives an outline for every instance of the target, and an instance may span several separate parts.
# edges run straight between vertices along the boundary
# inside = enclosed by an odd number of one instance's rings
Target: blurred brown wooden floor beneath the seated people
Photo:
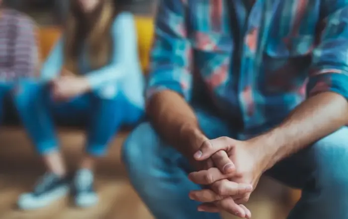
[[[66,198],[49,208],[23,212],[16,208],[16,199],[30,190],[44,172],[40,159],[34,155],[25,134],[18,129],[0,132],[0,219],[153,219],[130,186],[119,159],[121,135],[110,148],[109,155],[97,167],[96,188],[100,195],[97,206],[81,210]],[[82,154],[82,132],[61,132],[63,151],[69,168],[76,166]],[[284,188],[269,179],[263,179],[248,207],[253,219],[285,219],[289,210],[284,203]],[[224,216],[224,219],[234,219]]]

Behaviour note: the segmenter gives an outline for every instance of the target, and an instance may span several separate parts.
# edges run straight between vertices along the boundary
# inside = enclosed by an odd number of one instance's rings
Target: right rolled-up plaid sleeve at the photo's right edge
[[[348,0],[323,0],[325,28],[313,50],[308,96],[336,92],[348,100]]]

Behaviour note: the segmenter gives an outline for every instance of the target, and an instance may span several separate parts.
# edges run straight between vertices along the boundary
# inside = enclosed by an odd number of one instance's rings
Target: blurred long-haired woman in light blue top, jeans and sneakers
[[[127,2],[127,0],[124,0]],[[121,125],[135,125],[144,111],[144,78],[137,54],[132,14],[123,0],[71,0],[62,39],[41,70],[38,82],[23,82],[15,105],[47,173],[34,190],[22,194],[21,209],[36,209],[72,188],[76,205],[93,206],[96,159]],[[71,177],[67,173],[53,118],[86,120],[86,155]]]

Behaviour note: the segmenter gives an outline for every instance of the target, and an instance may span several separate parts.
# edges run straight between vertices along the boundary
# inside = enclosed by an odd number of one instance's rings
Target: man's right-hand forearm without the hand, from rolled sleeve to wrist
[[[348,124],[348,101],[325,92],[310,97],[273,130],[251,140],[263,154],[265,170]]]

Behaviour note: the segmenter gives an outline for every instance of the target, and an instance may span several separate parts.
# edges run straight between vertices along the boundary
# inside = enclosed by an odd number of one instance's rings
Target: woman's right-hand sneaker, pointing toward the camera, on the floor
[[[77,171],[74,179],[75,204],[81,208],[88,208],[98,203],[98,195],[93,187],[93,172],[88,169]]]

